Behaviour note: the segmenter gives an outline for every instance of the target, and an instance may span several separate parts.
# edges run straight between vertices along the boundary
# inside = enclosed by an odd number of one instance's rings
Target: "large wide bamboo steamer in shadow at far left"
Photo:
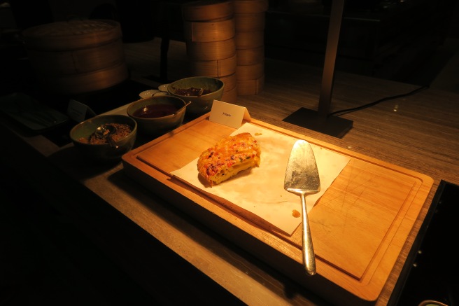
[[[22,36],[43,90],[92,92],[129,76],[120,24],[113,20],[53,22],[25,29]]]

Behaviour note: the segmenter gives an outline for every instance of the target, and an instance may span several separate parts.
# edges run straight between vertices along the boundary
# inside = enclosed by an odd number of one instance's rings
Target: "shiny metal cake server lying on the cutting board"
[[[290,193],[301,196],[302,227],[303,227],[303,265],[307,274],[316,274],[316,258],[312,245],[306,209],[306,195],[320,191],[320,178],[316,158],[311,145],[304,140],[295,142],[290,152],[287,169],[285,170],[284,188]]]

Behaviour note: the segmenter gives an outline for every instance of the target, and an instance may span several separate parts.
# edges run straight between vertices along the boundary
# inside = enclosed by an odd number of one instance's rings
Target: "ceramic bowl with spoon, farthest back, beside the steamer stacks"
[[[186,91],[191,89],[201,88],[203,90],[202,95],[198,95],[196,92],[192,92],[190,95],[185,94]],[[225,83],[219,78],[192,76],[170,83],[167,86],[167,91],[175,97],[191,102],[187,107],[189,113],[201,114],[211,111],[213,100],[222,98],[224,88]]]

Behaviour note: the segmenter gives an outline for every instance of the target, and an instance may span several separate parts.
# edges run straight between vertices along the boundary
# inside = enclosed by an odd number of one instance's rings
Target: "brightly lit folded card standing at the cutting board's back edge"
[[[238,129],[244,119],[251,120],[246,107],[213,100],[210,121]]]

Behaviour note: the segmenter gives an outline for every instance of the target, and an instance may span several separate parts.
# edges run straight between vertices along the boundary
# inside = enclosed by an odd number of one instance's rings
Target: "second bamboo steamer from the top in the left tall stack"
[[[213,22],[183,22],[185,41],[210,42],[233,39],[235,34],[234,18]]]

